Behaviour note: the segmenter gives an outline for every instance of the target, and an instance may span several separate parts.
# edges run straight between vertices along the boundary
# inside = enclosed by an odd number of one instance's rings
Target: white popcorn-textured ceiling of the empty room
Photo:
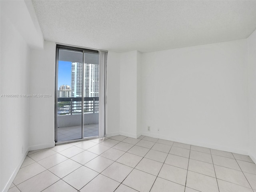
[[[247,38],[256,1],[32,0],[44,39],[152,52]]]

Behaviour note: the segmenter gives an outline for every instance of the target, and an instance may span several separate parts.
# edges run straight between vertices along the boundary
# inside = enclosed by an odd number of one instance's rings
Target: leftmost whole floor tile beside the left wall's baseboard
[[[27,179],[29,179],[29,178],[31,178],[31,177],[33,177],[33,176],[35,176],[35,175],[45,171],[45,170],[46,170],[46,168],[44,168],[40,164],[38,164],[36,162],[32,163],[32,164],[30,164],[30,165],[28,165],[26,167],[21,168],[18,171],[16,177],[14,178],[13,183],[15,185],[18,185],[21,182],[24,182]]]

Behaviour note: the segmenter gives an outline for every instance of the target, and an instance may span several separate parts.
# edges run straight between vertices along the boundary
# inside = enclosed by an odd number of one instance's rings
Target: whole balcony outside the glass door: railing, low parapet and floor
[[[81,138],[82,98],[58,98],[58,142]],[[99,98],[84,98],[84,137],[99,135]]]

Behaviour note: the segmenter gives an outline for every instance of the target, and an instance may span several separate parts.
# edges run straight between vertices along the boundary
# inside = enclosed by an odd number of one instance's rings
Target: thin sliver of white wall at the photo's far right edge
[[[250,157],[256,162],[256,31],[249,38],[248,44],[248,106]]]

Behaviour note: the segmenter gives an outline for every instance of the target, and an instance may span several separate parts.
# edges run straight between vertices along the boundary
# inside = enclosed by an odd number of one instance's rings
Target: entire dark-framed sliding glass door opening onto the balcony
[[[104,77],[98,58],[98,51],[57,46],[56,142],[99,137],[99,113],[104,113],[99,110],[100,94],[104,95],[100,78]]]

